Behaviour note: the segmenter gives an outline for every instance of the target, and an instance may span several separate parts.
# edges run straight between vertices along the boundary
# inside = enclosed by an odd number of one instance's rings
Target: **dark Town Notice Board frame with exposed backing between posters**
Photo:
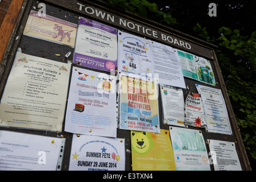
[[[213,44],[204,42],[203,40],[194,38],[193,36],[184,34],[183,32],[174,30],[170,27],[163,26],[157,22],[152,22],[148,19],[138,18],[134,14],[127,12],[119,12],[113,7],[106,5],[104,2],[96,1],[68,1],[68,0],[46,0],[40,1],[46,4],[46,14],[55,16],[56,18],[64,19],[72,23],[77,23],[79,16],[84,16],[85,18],[96,20],[98,22],[107,24],[109,26],[115,27],[119,30],[129,32],[131,34],[142,36],[147,39],[154,40],[159,43],[167,44],[173,48],[181,49],[188,53],[193,53],[194,55],[204,57],[210,60],[212,65],[214,76],[216,79],[216,86],[213,88],[221,89],[224,96],[226,108],[228,110],[229,121],[232,127],[232,135],[217,134],[217,133],[207,133],[202,130],[205,143],[207,139],[224,140],[228,142],[236,143],[236,150],[240,159],[241,167],[243,170],[251,170],[249,160],[247,159],[245,147],[243,146],[242,138],[240,132],[238,131],[238,126],[232,105],[230,104],[228,92],[226,90],[225,82],[222,78],[220,67],[218,65],[216,53],[214,49],[217,48]],[[14,57],[18,48],[22,50],[23,53],[27,53],[33,56],[46,57],[47,59],[63,61],[60,57],[54,56],[55,53],[65,55],[67,52],[71,51],[73,54],[73,48],[66,47],[62,45],[57,45],[55,43],[38,40],[36,38],[31,38],[23,35],[24,26],[30,10],[38,11],[38,2],[24,0],[22,6],[19,9],[19,14],[16,16],[16,22],[14,24],[13,30],[11,31],[9,42],[5,47],[5,52],[3,53],[0,67],[0,96],[2,97],[3,90],[9,73],[11,71],[11,66],[13,65]],[[98,14],[101,11],[105,14]],[[72,57],[73,55],[71,55]],[[191,92],[197,93],[195,84],[199,83],[196,80],[190,78],[185,79],[185,84],[189,89],[183,89],[184,98]],[[201,85],[211,86],[209,84],[204,84],[200,82]],[[160,103],[159,98],[159,103]],[[160,116],[162,115],[162,106],[159,105]],[[162,118],[160,118],[161,121]],[[65,121],[64,121],[65,122]],[[64,123],[63,123],[64,126]],[[168,125],[164,125],[160,122],[160,129],[168,130]],[[195,129],[195,128],[193,128]],[[38,130],[23,130],[11,127],[0,127],[0,130],[18,131],[22,133],[38,134],[44,136],[56,137],[56,132],[50,131],[38,131]],[[200,130],[200,129],[197,129]],[[68,170],[69,167],[69,157],[71,155],[71,142],[72,134],[65,133],[64,129],[62,132],[64,138],[66,138],[65,151],[63,156],[62,170]],[[131,144],[130,144],[130,131],[117,129],[117,137],[126,139],[126,164],[125,169],[130,171],[132,168],[131,162]],[[209,146],[207,145],[207,150],[209,152]],[[213,169],[213,165],[210,165]]]

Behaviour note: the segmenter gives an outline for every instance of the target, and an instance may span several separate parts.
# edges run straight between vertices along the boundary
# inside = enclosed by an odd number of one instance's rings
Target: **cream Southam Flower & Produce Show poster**
[[[61,131],[70,67],[17,52],[0,104],[0,126]]]

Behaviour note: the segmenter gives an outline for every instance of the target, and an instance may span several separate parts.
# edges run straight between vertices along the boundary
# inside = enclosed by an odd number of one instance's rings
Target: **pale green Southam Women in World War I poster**
[[[210,171],[201,131],[170,126],[170,135],[177,171]]]

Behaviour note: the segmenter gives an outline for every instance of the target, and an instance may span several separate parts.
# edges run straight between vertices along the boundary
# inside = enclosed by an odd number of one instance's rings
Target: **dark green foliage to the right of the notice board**
[[[256,31],[241,36],[240,30],[218,28],[219,37],[209,39],[199,23],[193,29],[208,42],[217,44],[216,55],[249,156],[256,159]]]

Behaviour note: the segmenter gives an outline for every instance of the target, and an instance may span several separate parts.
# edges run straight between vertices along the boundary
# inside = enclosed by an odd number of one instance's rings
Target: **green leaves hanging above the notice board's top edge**
[[[147,0],[105,0],[111,5],[118,7],[122,10],[130,11],[131,13],[136,13],[143,18],[147,18],[148,14],[152,13],[153,16],[162,17],[163,21],[171,24],[176,23],[176,19],[172,18],[171,13],[163,13],[163,11],[158,10],[158,5],[156,3],[150,3]]]

